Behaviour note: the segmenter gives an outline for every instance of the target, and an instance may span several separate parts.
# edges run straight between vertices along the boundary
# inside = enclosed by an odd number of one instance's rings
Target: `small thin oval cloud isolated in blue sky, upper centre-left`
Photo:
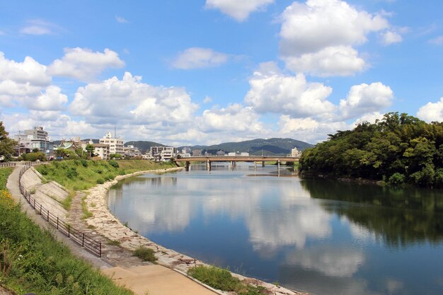
[[[228,61],[228,55],[215,52],[210,48],[191,47],[180,52],[173,61],[173,67],[177,69],[200,69],[219,66]]]

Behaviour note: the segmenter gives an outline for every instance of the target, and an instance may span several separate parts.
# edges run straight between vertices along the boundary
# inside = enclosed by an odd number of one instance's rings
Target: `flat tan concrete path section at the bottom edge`
[[[214,295],[215,293],[183,274],[161,265],[130,268],[113,267],[103,270],[116,284],[127,287],[137,295]]]

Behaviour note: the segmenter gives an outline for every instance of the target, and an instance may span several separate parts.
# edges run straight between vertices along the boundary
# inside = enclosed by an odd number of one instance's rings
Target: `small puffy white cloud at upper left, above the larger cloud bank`
[[[125,65],[117,52],[108,48],[102,52],[92,52],[86,48],[65,48],[64,57],[56,59],[48,67],[53,76],[67,76],[80,81],[91,81],[107,68],[120,68]]]

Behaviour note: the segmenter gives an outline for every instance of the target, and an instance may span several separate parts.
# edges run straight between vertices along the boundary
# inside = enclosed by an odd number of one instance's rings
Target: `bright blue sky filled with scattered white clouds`
[[[443,2],[3,1],[0,120],[52,139],[311,143],[443,120]]]

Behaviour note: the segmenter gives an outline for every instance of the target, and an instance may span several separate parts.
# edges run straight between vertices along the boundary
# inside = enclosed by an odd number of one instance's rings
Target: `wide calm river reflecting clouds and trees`
[[[220,164],[127,178],[108,206],[166,248],[312,295],[443,294],[442,190]]]

